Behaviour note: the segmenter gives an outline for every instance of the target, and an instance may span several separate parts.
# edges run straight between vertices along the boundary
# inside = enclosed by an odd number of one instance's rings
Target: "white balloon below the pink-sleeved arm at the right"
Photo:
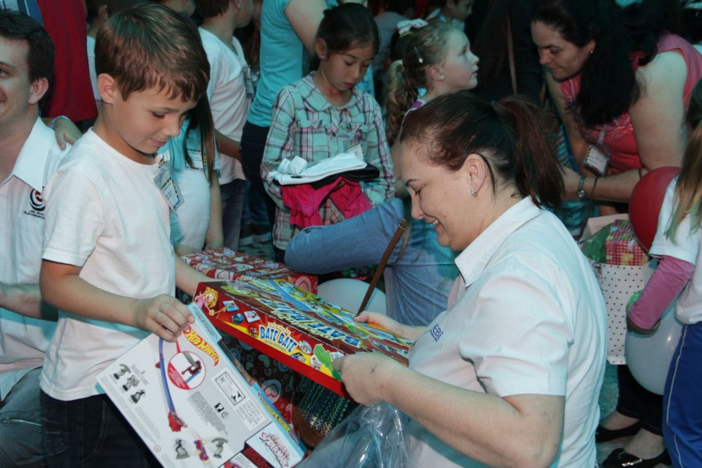
[[[682,323],[675,319],[675,303],[663,312],[661,325],[655,333],[626,334],[626,363],[631,375],[642,387],[658,395],[663,394],[670,360],[673,359],[682,331]]]

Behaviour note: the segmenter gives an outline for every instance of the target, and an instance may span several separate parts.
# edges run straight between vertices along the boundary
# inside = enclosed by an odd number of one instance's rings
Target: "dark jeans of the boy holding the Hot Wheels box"
[[[60,401],[41,392],[41,412],[50,468],[161,466],[106,395]]]

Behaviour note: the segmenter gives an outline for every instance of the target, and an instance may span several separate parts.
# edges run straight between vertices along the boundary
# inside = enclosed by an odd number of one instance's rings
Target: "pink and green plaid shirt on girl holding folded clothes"
[[[334,107],[312,81],[312,74],[282,88],[273,105],[272,122],[261,163],[261,178],[277,205],[273,243],[285,250],[299,230],[290,225],[289,208],[284,205],[280,187],[267,182],[268,173],[283,159],[300,156],[310,163],[335,156],[360,143],[364,160],[380,171],[373,182],[361,182],[371,205],[383,203],[395,194],[395,175],[388,140],[385,139],[380,107],[371,95],[352,89],[349,102]],[[330,199],[319,207],[325,225],[343,220],[343,214]]]

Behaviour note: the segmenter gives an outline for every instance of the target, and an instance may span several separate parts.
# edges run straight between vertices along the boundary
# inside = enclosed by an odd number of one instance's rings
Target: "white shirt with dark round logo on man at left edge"
[[[65,158],[53,131],[37,119],[12,173],[0,181],[0,281],[38,284],[44,238],[44,185]],[[0,308],[0,400],[44,362],[55,322]]]

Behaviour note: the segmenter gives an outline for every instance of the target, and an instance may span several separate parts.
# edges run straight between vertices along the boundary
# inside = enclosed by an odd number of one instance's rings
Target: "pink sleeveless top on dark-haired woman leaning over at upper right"
[[[693,46],[680,36],[675,34],[663,34],[658,41],[658,53],[668,51],[678,51],[682,54],[687,65],[687,79],[683,88],[682,100],[684,103],[685,112],[690,104],[692,90],[697,81],[702,79],[702,55],[698,53]],[[633,67],[638,69],[637,65],[641,53],[633,56]],[[568,109],[576,109],[574,115],[578,123],[583,138],[591,144],[596,144],[600,140],[602,126],[585,127],[585,124],[580,118],[578,112],[576,98],[580,93],[580,75],[574,76],[558,83],[566,100]],[[630,169],[641,168],[641,159],[639,157],[639,149],[636,145],[634,128],[631,124],[629,113],[621,114],[612,123],[607,124],[606,133],[604,136],[604,145],[609,149],[611,161],[609,166],[614,173],[628,171]]]

